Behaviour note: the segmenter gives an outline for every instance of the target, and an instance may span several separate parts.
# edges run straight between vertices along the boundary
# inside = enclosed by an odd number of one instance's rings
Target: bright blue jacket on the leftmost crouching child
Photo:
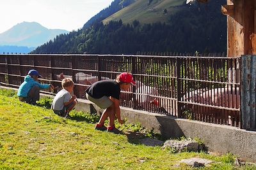
[[[40,89],[49,89],[50,85],[47,84],[40,84],[38,81],[35,81],[29,75],[24,78],[24,82],[20,85],[18,90],[19,97],[28,97],[28,92],[34,85],[38,85]]]

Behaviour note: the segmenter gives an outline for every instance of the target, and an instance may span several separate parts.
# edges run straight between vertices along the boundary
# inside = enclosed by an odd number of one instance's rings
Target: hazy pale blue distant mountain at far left
[[[0,45],[35,47],[67,33],[62,29],[47,29],[37,22],[22,22],[0,34]]]

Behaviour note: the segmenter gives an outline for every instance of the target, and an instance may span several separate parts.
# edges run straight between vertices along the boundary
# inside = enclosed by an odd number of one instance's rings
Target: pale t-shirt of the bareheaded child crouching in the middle
[[[60,90],[53,99],[51,109],[52,110],[62,110],[64,108],[64,103],[67,103],[71,99],[71,94],[65,89]]]

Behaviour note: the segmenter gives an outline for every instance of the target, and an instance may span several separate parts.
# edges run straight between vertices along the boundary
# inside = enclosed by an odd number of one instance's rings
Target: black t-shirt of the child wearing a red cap
[[[120,85],[116,81],[102,80],[93,83],[85,92],[95,99],[111,96],[119,100],[120,91]]]

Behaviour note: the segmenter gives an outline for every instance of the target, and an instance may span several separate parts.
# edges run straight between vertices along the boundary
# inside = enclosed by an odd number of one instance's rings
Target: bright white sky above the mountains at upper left
[[[114,0],[0,0],[0,33],[20,22],[77,30]]]

